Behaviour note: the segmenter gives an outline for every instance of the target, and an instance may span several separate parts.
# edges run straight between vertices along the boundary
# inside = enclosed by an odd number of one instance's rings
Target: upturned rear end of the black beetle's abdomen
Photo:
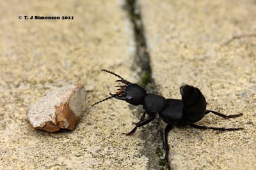
[[[183,85],[180,87],[180,94],[184,104],[182,119],[192,124],[204,118],[206,101],[202,92],[196,87]]]

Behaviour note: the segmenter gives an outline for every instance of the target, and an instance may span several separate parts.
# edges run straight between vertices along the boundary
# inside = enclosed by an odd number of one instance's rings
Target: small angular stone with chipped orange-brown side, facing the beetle
[[[86,90],[79,83],[52,90],[29,106],[28,122],[47,132],[74,130],[85,110],[85,100]]]

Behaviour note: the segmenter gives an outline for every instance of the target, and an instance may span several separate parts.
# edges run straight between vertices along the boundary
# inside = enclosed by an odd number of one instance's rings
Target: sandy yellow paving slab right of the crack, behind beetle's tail
[[[153,78],[165,97],[180,99],[182,82],[198,87],[209,114],[198,125],[244,127],[201,131],[175,127],[169,135],[172,169],[256,169],[256,1],[140,1]]]

